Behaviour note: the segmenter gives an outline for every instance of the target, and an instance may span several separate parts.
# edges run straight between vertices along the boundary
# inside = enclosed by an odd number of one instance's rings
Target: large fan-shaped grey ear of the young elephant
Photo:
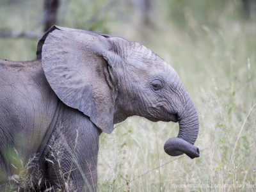
[[[113,131],[117,96],[109,36],[52,26],[38,42],[37,58],[59,99],[106,133]]]

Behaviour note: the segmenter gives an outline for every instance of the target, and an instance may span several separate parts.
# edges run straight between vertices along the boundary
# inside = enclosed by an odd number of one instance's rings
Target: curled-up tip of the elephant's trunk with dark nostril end
[[[199,149],[181,138],[170,138],[164,143],[164,151],[169,156],[186,154],[191,159],[200,156]]]

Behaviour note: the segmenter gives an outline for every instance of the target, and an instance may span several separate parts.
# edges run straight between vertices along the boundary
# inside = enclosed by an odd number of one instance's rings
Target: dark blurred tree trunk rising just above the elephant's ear
[[[59,4],[59,0],[44,1],[44,31],[56,24]]]

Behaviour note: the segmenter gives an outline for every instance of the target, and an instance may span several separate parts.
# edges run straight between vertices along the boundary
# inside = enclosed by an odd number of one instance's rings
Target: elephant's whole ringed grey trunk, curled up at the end
[[[179,134],[177,138],[170,138],[164,143],[164,151],[170,156],[186,154],[191,159],[200,156],[199,149],[194,145],[199,131],[198,115],[188,94],[188,101],[184,111],[178,114]]]

